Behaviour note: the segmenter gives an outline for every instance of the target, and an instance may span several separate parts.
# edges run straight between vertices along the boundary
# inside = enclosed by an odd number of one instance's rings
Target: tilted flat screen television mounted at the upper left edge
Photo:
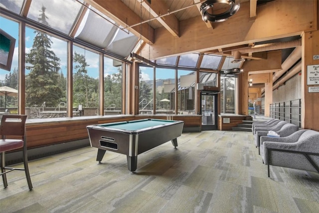
[[[0,29],[0,68],[10,71],[15,38]]]

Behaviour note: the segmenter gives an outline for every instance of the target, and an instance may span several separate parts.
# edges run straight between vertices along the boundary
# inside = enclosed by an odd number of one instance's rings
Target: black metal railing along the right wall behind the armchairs
[[[301,99],[270,104],[270,116],[301,127]]]

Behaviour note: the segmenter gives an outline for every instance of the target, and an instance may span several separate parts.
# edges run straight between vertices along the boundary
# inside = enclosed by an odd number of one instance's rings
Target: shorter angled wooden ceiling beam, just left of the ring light
[[[169,8],[162,0],[152,0],[149,3],[147,0],[138,0],[142,6],[149,11],[154,17],[166,14]],[[158,17],[157,20],[163,25],[174,37],[179,37],[179,21],[174,14]]]

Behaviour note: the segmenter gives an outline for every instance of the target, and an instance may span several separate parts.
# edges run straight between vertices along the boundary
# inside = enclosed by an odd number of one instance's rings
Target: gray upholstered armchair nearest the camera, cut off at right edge
[[[270,165],[319,173],[319,132],[299,130],[283,138],[262,136],[260,142],[268,177]]]

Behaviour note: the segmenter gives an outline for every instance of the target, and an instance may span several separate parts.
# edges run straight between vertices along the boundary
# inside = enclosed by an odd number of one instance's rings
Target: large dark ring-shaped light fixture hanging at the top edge
[[[230,16],[235,14],[240,7],[240,3],[237,0],[206,0],[200,5],[200,12],[202,14],[203,21],[207,22],[207,20],[211,22],[222,22],[227,20]],[[214,4],[225,4],[228,9],[225,12],[213,14],[208,12],[209,9],[214,7]],[[218,6],[217,6],[218,7]],[[212,9],[211,9],[212,10]]]

